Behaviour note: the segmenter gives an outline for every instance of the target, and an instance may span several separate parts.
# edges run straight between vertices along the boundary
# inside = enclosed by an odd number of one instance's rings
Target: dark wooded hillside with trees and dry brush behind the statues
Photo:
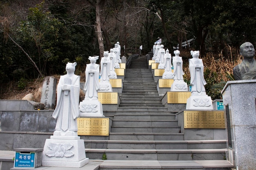
[[[142,45],[146,55],[159,38],[170,53],[179,44],[183,60],[199,50],[207,94],[220,99],[221,88],[212,87],[232,79],[240,44],[256,45],[255,28],[256,1],[0,0],[0,99],[19,99],[9,95],[65,74],[67,62],[77,62],[76,74],[85,80],[89,56],[102,57],[117,41]],[[182,48],[190,39],[193,45]],[[186,62],[184,72],[189,83]]]

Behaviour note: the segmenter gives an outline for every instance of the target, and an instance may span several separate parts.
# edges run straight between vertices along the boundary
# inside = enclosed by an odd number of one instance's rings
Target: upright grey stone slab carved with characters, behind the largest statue
[[[43,79],[41,103],[45,104],[45,109],[54,109],[56,101],[56,84],[57,79],[47,76]]]

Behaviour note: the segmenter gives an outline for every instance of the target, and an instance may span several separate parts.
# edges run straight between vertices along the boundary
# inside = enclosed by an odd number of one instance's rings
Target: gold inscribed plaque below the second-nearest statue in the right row
[[[190,91],[168,91],[168,104],[186,104],[187,99],[191,96]]]

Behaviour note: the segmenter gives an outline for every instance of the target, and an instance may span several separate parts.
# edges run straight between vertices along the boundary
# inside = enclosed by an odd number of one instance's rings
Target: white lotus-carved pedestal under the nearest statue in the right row
[[[191,94],[186,102],[186,110],[213,110],[211,96]]]

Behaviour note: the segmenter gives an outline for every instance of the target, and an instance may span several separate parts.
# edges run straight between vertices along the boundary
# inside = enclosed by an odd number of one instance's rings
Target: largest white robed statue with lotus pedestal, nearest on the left
[[[85,157],[84,141],[77,135],[79,116],[80,76],[75,75],[74,63],[67,63],[57,87],[57,104],[52,117],[57,119],[53,136],[46,139],[42,155],[43,166],[80,168],[89,162]]]

